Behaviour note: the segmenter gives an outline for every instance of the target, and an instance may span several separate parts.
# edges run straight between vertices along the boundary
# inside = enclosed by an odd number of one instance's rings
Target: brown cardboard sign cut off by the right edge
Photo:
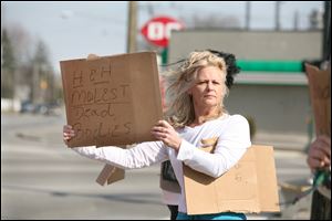
[[[315,133],[331,136],[331,65],[322,71],[305,64],[305,72],[314,113]]]

